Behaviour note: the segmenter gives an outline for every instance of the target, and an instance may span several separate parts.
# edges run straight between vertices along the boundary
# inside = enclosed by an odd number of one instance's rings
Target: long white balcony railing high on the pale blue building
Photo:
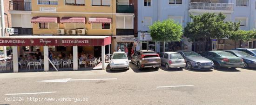
[[[229,10],[234,8],[233,3],[204,3],[204,2],[190,2],[189,9],[205,9],[205,10]]]

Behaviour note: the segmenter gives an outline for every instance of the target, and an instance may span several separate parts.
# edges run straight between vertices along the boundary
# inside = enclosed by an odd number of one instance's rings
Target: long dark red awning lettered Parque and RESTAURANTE
[[[9,36],[0,37],[0,46],[106,46],[111,36]]]

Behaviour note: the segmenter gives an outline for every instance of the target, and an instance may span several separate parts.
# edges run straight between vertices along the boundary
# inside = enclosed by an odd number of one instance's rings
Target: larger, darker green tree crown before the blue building
[[[227,37],[234,24],[225,23],[225,15],[219,13],[203,13],[198,16],[190,15],[193,22],[187,23],[184,28],[184,35],[189,41],[194,41],[196,38],[213,38],[222,39]]]

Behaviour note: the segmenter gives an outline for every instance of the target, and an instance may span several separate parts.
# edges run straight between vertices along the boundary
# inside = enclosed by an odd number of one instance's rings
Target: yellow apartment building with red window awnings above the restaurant
[[[9,1],[16,35],[93,35],[112,36],[111,52],[118,45],[133,46],[135,41],[136,0],[12,0]],[[50,46],[56,52],[72,52],[71,46]],[[78,46],[78,52],[101,56],[101,46]],[[20,52],[43,50],[23,46]],[[110,53],[111,53],[110,52]],[[108,53],[106,46],[105,53]]]

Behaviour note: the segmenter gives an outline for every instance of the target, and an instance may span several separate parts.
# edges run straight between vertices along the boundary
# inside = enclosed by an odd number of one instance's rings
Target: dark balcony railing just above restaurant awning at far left
[[[22,27],[12,27],[14,28],[13,35],[33,35],[33,28],[22,28]]]

